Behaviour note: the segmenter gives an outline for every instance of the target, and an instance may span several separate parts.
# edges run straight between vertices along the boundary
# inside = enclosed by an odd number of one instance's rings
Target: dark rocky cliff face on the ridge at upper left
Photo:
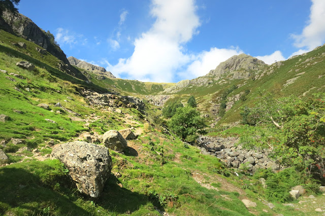
[[[4,11],[0,19],[0,28],[10,33],[15,33],[20,37],[33,42],[40,47],[46,49],[50,54],[62,61],[59,69],[66,71],[67,74],[72,75],[81,80],[87,78],[81,74],[79,70],[74,68],[67,59],[66,54],[46,35],[45,31],[39,28],[28,17],[11,11]]]

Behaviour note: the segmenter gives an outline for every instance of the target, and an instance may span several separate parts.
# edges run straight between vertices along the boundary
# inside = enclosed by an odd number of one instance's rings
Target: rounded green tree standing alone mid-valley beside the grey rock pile
[[[204,118],[201,117],[200,112],[190,106],[179,107],[169,121],[169,128],[182,137],[183,141],[189,135],[205,133],[202,130],[205,126]]]

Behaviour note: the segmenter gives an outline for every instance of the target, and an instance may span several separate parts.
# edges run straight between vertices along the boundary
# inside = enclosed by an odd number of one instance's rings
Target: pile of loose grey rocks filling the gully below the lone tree
[[[269,150],[244,150],[237,137],[207,137],[198,139],[202,154],[213,155],[223,161],[228,167],[241,168],[250,172],[255,170],[271,168],[273,171],[280,169],[280,166],[271,161],[268,157]]]

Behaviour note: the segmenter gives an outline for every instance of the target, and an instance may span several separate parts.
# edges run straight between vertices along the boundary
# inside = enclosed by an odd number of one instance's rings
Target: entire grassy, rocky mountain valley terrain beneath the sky
[[[1,215],[314,215],[322,208],[325,189],[308,169],[324,165],[325,100],[315,94],[325,92],[325,46],[272,65],[241,54],[203,77],[148,83],[67,59],[21,14],[5,13],[0,24]],[[261,92],[275,98],[266,108],[291,114],[287,128],[241,124],[242,108],[259,108]],[[191,95],[209,133],[185,142],[161,110]],[[283,103],[288,96],[301,102]],[[273,117],[267,122],[283,116]],[[290,157],[291,148],[281,158],[303,170],[284,166],[272,158],[283,140],[307,142],[298,150],[320,162]]]

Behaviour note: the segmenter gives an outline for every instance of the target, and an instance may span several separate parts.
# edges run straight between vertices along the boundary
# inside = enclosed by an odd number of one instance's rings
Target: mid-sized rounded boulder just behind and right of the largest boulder
[[[103,135],[103,144],[112,150],[122,152],[127,148],[127,142],[117,130],[109,130]]]

